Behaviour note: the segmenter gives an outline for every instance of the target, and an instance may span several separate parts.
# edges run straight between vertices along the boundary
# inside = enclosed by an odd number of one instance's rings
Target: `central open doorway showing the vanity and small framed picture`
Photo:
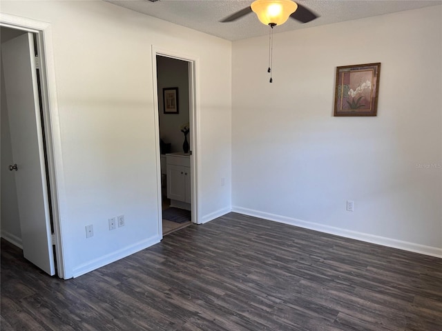
[[[189,62],[156,55],[162,234],[191,224]]]

